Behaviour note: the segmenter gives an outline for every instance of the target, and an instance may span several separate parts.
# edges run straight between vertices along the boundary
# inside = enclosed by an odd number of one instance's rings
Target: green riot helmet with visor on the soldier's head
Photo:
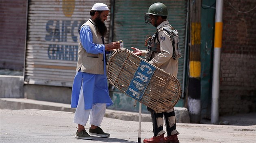
[[[147,25],[150,25],[149,15],[155,15],[155,17],[156,16],[167,16],[168,15],[167,7],[165,6],[165,4],[163,4],[161,2],[156,2],[156,3],[152,4],[148,8],[148,13],[145,13],[145,23]],[[155,20],[155,23],[156,23],[156,20]]]

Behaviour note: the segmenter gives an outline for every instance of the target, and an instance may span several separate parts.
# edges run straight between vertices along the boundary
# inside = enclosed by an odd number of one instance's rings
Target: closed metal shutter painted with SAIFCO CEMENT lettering
[[[91,16],[95,0],[30,0],[26,84],[72,87],[76,74],[78,29]],[[110,8],[110,0],[102,0]],[[110,18],[106,21],[109,27]],[[108,38],[106,38],[108,41]]]

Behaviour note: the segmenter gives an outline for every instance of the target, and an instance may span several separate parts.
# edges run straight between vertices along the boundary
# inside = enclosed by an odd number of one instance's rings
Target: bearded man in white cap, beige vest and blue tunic
[[[108,94],[106,78],[106,51],[119,49],[119,42],[104,44],[109,9],[106,4],[93,5],[91,18],[79,29],[78,62],[72,88],[71,107],[76,108],[74,123],[78,124],[75,137],[92,139],[90,135],[109,137],[100,128],[106,107],[113,102]],[[89,134],[85,125],[89,120]]]

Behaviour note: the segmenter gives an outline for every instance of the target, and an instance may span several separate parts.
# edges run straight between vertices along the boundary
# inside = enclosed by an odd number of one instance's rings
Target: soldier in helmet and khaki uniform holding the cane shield
[[[157,2],[148,8],[148,13],[145,14],[145,23],[153,25],[157,28],[156,33],[146,41],[147,50],[139,50],[131,47],[135,55],[145,56],[145,59],[150,64],[163,69],[177,77],[178,74],[178,58],[181,53],[175,55],[175,48],[178,48],[178,32],[167,21],[167,7],[165,4]],[[174,32],[175,36],[171,34]],[[176,45],[175,45],[176,43]],[[179,52],[180,49],[178,48]],[[155,111],[148,107],[151,113],[153,122],[154,136],[150,139],[144,139],[143,143],[179,143],[176,130],[176,118],[174,108],[165,112]],[[165,125],[167,136],[163,130],[163,116],[165,118]]]

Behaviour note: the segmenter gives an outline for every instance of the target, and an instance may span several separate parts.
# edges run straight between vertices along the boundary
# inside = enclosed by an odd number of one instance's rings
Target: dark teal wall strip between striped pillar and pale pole
[[[211,87],[213,82],[215,0],[203,0],[201,11],[201,117],[210,118]]]

